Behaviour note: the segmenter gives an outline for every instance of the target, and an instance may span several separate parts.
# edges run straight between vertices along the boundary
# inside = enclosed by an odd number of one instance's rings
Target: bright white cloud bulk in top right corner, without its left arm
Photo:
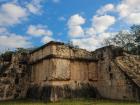
[[[129,24],[140,24],[140,0],[122,0],[117,5],[120,18]]]

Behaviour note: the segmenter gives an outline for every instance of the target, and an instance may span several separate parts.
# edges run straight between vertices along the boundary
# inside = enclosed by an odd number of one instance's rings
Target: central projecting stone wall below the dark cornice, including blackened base
[[[27,97],[51,101],[96,97],[96,89],[91,82],[97,79],[95,63],[58,58],[46,59],[42,63],[43,65],[33,65],[35,68],[31,73],[32,82]],[[34,94],[36,92],[37,94]]]

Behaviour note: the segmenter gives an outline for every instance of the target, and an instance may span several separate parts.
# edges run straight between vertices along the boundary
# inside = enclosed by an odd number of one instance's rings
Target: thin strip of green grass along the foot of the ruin
[[[37,101],[5,101],[0,105],[140,105],[136,102],[106,101],[106,100],[65,100],[61,102],[47,103]]]

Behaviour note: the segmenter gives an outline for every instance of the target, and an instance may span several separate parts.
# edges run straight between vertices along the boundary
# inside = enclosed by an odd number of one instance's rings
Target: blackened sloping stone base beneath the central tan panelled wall
[[[72,87],[72,84],[58,86],[32,85],[27,92],[28,98],[46,101],[58,101],[63,98],[96,98],[96,96],[95,87],[88,83],[79,83],[75,88]]]

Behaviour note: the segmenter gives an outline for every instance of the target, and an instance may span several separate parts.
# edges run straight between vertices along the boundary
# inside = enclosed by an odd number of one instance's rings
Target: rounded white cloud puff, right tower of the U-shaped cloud
[[[106,31],[111,25],[113,25],[115,21],[115,17],[110,15],[94,16],[92,20],[92,26],[97,33],[102,33]]]

